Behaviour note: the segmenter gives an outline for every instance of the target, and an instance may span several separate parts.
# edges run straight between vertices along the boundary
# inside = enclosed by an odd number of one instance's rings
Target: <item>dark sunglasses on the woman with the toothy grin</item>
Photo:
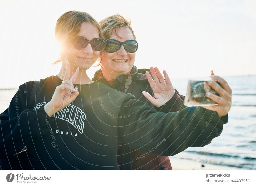
[[[129,53],[134,53],[138,49],[138,43],[136,40],[130,39],[125,42],[120,42],[115,39],[108,39],[105,51],[109,53],[117,52],[121,48],[121,45],[123,45],[124,49]]]

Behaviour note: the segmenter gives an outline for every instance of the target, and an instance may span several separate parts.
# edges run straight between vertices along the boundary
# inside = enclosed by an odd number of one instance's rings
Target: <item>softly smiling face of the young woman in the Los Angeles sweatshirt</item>
[[[76,36],[82,36],[88,40],[92,40],[94,38],[99,38],[99,31],[97,27],[91,22],[83,22],[80,27],[79,33]],[[98,59],[100,55],[100,51],[92,50],[92,46],[89,43],[84,49],[76,49],[73,46],[73,43],[68,43],[66,46],[68,61],[70,63],[70,67],[76,69],[87,70],[92,64]]]

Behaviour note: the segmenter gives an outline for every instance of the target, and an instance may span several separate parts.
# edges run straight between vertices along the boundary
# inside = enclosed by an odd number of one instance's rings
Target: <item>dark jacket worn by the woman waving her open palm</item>
[[[160,112],[177,112],[186,108],[186,106],[183,105],[184,96],[180,95],[176,89],[175,94],[168,102],[159,108],[154,107],[142,94],[142,91],[146,91],[153,96],[152,89],[150,88],[145,74],[146,71],[150,73],[149,69],[137,69],[136,66],[133,66],[130,74],[122,74],[116,79],[113,79],[112,86],[103,77],[102,71],[98,70],[94,74],[93,81],[104,83],[124,93],[131,93],[140,101],[145,102],[151,108],[155,108]],[[146,123],[145,127],[147,127]],[[119,143],[118,155],[118,163],[121,170],[172,170],[169,158],[159,156],[155,152],[154,154],[145,154],[143,151],[134,150]],[[140,159],[138,159],[138,157],[140,157]]]

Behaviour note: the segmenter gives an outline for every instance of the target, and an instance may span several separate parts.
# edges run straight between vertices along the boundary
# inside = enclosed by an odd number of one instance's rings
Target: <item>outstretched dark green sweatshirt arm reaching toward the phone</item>
[[[231,91],[225,83],[225,80],[220,82],[223,89]],[[119,136],[124,144],[133,149],[148,152],[156,146],[150,153],[164,156],[175,155],[188,147],[207,145],[220,135],[223,124],[228,122],[231,95],[225,97],[219,107],[209,107],[208,110],[203,107],[186,107],[180,112],[165,114],[129,95],[119,114],[129,114],[131,117],[118,119]],[[164,142],[160,143],[162,140]],[[157,145],[158,142],[160,145]]]

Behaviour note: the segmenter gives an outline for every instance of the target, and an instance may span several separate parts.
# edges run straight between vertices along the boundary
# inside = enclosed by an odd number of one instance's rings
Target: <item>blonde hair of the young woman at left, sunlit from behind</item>
[[[80,31],[80,27],[83,22],[93,23],[98,28],[100,38],[104,39],[101,27],[96,19],[94,19],[89,13],[72,10],[62,14],[57,20],[55,27],[56,40],[65,44],[67,38],[73,35],[75,36]],[[63,61],[65,57],[66,54],[61,52],[60,58],[53,64]],[[100,56],[98,60],[100,60]]]

